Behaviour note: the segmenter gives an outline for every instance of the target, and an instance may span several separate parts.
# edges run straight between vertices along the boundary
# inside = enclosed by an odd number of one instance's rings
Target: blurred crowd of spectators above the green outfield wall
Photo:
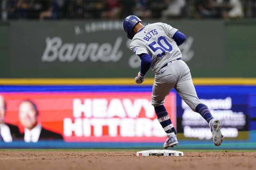
[[[6,19],[251,18],[256,0],[1,0]]]

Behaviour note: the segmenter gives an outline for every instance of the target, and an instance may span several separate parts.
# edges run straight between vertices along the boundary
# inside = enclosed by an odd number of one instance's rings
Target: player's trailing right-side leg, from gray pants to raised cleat
[[[177,63],[175,67],[177,70],[180,70],[182,76],[174,88],[188,106],[193,111],[199,113],[209,123],[209,127],[212,131],[213,143],[214,145],[219,146],[223,141],[223,135],[220,130],[220,120],[214,119],[209,108],[198,99],[187,64],[181,60],[179,61],[179,64]]]

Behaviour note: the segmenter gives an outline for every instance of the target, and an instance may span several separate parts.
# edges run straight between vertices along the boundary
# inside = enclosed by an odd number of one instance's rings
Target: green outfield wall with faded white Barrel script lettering
[[[256,77],[255,21],[161,22],[186,35],[180,49],[192,77]],[[0,78],[131,78],[140,70],[122,21],[10,21],[0,36]]]

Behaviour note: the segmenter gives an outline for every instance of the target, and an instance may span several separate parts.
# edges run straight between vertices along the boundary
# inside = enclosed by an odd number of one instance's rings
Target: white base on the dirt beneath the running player
[[[184,156],[184,154],[173,150],[148,150],[137,152],[137,156]]]

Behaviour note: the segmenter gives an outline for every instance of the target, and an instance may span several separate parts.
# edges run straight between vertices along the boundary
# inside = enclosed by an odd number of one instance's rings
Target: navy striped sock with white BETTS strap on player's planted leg
[[[164,105],[156,106],[155,111],[156,111],[158,122],[161,124],[164,131],[166,133],[174,132],[176,135],[177,134],[176,130],[174,129],[174,127],[172,125],[172,121],[171,121]]]

